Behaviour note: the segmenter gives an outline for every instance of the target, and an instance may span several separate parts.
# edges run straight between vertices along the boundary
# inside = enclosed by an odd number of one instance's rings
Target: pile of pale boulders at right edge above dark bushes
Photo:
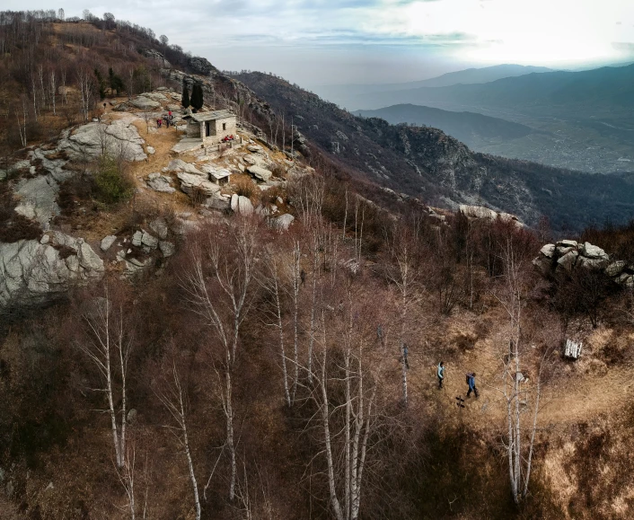
[[[533,260],[533,266],[544,276],[571,273],[575,269],[592,269],[602,271],[620,285],[634,286],[634,265],[628,266],[622,260],[611,261],[610,255],[590,242],[561,240],[547,243]]]

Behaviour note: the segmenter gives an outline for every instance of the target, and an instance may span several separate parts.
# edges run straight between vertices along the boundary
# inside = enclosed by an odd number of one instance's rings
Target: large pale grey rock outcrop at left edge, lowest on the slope
[[[51,232],[41,241],[0,243],[0,313],[46,304],[103,272],[103,261],[81,238]]]

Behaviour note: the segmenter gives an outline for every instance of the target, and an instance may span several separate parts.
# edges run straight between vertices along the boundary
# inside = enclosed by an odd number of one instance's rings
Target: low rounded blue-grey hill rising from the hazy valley
[[[385,119],[392,125],[414,123],[440,128],[446,134],[476,149],[483,140],[495,139],[499,142],[536,133],[533,128],[525,125],[475,112],[453,112],[411,104],[393,105],[378,110],[357,110],[354,113],[365,118]]]

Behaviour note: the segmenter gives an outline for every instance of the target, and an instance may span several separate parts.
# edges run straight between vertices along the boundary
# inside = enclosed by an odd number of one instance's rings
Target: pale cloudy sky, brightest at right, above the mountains
[[[110,12],[221,69],[271,71],[304,86],[413,81],[500,63],[634,61],[634,0],[72,0],[57,7],[66,16]]]

